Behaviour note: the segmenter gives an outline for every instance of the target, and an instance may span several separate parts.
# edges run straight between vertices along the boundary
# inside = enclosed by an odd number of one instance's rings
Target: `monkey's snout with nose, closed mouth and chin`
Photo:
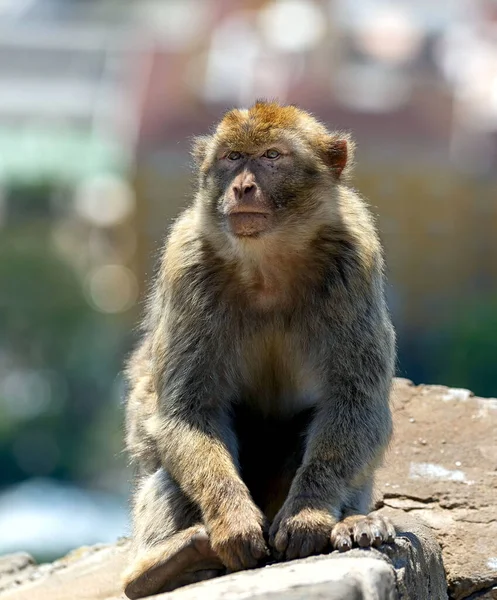
[[[236,236],[257,236],[272,224],[272,211],[253,173],[235,177],[225,195],[224,214]]]

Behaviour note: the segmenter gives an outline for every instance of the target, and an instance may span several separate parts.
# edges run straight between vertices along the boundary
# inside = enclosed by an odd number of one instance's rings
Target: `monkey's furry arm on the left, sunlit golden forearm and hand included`
[[[207,316],[195,319],[189,302],[170,309],[154,351],[159,411],[153,435],[164,468],[199,507],[223,563],[232,570],[253,567],[267,548],[263,515],[235,464],[232,394],[223,374],[229,342],[211,313],[201,310]]]

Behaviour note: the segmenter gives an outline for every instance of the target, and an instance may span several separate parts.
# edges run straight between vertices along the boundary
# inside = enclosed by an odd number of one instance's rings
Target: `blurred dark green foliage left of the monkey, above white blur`
[[[2,485],[33,475],[101,484],[106,469],[122,466],[118,374],[128,328],[89,305],[54,249],[49,194],[47,183],[11,190],[0,237]]]

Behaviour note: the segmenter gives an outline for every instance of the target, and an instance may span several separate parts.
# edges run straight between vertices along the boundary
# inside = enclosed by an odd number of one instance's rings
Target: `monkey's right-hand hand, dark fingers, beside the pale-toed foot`
[[[280,559],[319,554],[329,548],[335,523],[326,509],[283,505],[269,530],[269,543]]]

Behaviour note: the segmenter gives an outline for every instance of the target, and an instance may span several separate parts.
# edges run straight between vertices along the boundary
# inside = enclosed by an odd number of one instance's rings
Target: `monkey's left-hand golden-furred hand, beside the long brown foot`
[[[229,570],[254,568],[269,555],[263,524],[264,516],[251,500],[210,520],[211,547]]]

